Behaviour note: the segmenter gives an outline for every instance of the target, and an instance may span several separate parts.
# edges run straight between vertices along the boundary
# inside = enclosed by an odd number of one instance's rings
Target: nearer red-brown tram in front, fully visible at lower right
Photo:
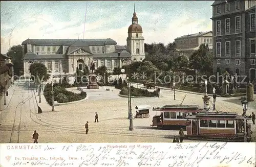
[[[212,139],[221,141],[251,140],[251,126],[247,124],[248,117],[239,116],[234,112],[199,112],[188,115],[187,139]],[[246,136],[244,121],[246,120]]]

